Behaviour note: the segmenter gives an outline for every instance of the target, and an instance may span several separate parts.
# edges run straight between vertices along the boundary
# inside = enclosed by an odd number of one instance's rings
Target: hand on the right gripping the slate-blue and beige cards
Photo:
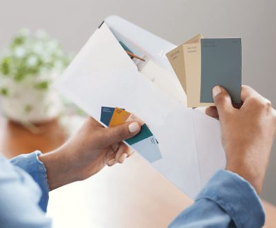
[[[251,87],[242,86],[241,98],[243,104],[236,109],[228,92],[216,86],[216,107],[208,107],[206,114],[219,118],[226,169],[248,180],[259,194],[275,135],[276,114],[270,101]]]

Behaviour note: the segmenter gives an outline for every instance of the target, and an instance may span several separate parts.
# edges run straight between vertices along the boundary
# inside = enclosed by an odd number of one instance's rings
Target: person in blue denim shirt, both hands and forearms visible
[[[262,227],[262,190],[276,129],[271,103],[242,87],[236,109],[222,87],[214,87],[215,107],[206,114],[219,118],[226,169],[219,170],[195,203],[169,225],[178,227]],[[0,158],[0,227],[50,227],[45,217],[48,192],[84,180],[106,165],[123,163],[132,152],[121,143],[141,129],[137,122],[109,129],[88,118],[75,136],[47,154],[32,152],[11,160]]]

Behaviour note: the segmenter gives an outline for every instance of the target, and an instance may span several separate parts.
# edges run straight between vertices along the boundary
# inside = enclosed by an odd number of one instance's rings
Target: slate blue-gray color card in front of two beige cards
[[[215,85],[226,88],[233,103],[241,103],[242,39],[201,39],[200,102],[214,102]]]

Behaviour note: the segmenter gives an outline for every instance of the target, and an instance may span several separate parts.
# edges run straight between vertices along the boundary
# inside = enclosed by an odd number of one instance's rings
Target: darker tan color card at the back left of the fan
[[[185,66],[184,66],[184,53],[183,46],[186,43],[199,43],[202,38],[201,34],[197,34],[197,36],[189,39],[185,43],[179,45],[177,48],[171,50],[166,54],[168,61],[170,61],[170,65],[172,65],[172,69],[175,71],[177,78],[179,79],[181,86],[187,94],[186,87],[186,75],[185,75]]]

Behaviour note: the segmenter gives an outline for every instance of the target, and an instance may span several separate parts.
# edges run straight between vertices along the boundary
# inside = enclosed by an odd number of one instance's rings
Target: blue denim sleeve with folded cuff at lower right
[[[172,221],[170,228],[260,228],[265,215],[255,189],[241,176],[219,170],[195,203]]]

